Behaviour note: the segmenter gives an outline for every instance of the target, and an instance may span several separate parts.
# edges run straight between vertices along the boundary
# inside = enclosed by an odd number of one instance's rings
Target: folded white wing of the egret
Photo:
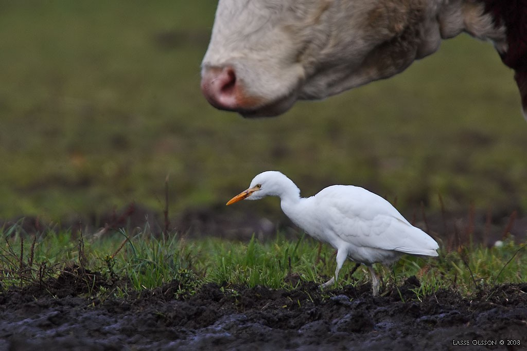
[[[437,253],[437,243],[412,226],[384,198],[355,186],[331,186],[315,195],[323,227],[358,247],[413,255]]]

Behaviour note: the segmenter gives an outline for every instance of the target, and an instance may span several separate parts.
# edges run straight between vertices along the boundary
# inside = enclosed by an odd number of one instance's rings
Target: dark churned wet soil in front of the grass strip
[[[0,349],[520,350],[527,345],[527,284],[495,287],[471,299],[440,291],[420,302],[410,290],[419,285],[415,277],[381,297],[373,297],[369,285],[322,291],[304,282],[291,291],[206,284],[196,295],[176,299],[178,282],[173,282],[101,300],[82,297],[89,295],[86,278],[96,289],[115,284],[76,267],[57,279],[0,294]]]

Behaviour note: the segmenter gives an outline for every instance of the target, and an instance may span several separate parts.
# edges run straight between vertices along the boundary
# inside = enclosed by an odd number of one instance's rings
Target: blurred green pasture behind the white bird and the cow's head
[[[269,169],[304,196],[354,184],[403,212],[438,210],[437,194],[527,210],[527,123],[491,44],[461,35],[392,79],[248,120],[199,89],[215,7],[0,1],[0,218],[161,212],[167,175],[177,216]]]

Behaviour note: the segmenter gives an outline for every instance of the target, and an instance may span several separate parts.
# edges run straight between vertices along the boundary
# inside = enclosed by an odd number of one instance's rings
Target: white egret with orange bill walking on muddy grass
[[[278,196],[284,213],[307,234],[337,249],[335,276],[322,286],[333,284],[347,257],[366,265],[372,274],[373,295],[379,292],[374,263],[392,263],[403,254],[437,256],[437,242],[411,225],[389,202],[353,185],[332,185],[314,196],[300,197],[300,189],[277,171],[254,177],[247,190],[231,198],[257,200]]]

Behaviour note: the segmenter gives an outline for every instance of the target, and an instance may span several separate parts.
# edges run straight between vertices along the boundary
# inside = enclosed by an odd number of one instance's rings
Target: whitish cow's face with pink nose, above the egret
[[[274,116],[406,68],[424,47],[419,0],[220,0],[202,62],[215,107]],[[422,49],[424,47],[424,49]],[[422,52],[419,52],[419,49]]]

